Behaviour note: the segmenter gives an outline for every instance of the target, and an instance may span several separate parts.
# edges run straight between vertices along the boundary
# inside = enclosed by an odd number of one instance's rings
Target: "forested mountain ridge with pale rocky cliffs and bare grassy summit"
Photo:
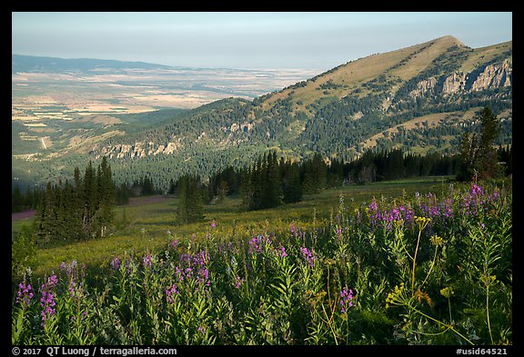
[[[106,156],[117,182],[151,174],[156,187],[183,174],[203,179],[267,150],[302,160],[349,162],[368,149],[457,154],[478,114],[498,115],[497,145],[512,142],[512,42],[469,48],[452,36],[369,55],[253,101],[229,98],[136,134],[94,143],[88,154],[31,163],[41,177]],[[28,166],[29,164],[21,164]]]

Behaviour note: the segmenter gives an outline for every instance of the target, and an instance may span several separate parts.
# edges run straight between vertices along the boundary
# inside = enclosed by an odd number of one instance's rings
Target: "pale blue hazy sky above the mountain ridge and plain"
[[[453,35],[512,40],[512,13],[12,13],[12,52],[192,67],[328,70]]]

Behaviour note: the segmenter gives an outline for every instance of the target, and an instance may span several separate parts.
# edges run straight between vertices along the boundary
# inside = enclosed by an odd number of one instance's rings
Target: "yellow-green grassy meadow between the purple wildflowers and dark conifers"
[[[213,233],[217,239],[249,239],[259,233],[289,232],[291,224],[301,229],[319,227],[337,214],[339,197],[342,194],[350,212],[363,202],[373,197],[378,200],[394,200],[402,194],[432,192],[439,194],[448,189],[448,183],[442,177],[406,179],[385,183],[369,183],[363,186],[346,186],[329,189],[322,193],[307,195],[300,203],[286,204],[274,209],[243,212],[240,199],[229,198],[217,205],[206,205],[205,219],[199,223],[175,225],[176,199],[166,199],[159,203],[146,203],[116,208],[116,220],[122,220],[124,211],[129,226],[104,239],[88,242],[67,243],[39,250],[36,260],[39,266],[35,275],[57,271],[60,263],[86,263],[89,268],[97,269],[107,264],[116,256],[125,253],[141,253],[166,249],[173,239],[186,240],[195,234],[195,239],[207,239],[207,233]],[[315,220],[314,220],[315,217]],[[217,228],[211,231],[210,222],[215,220]],[[16,231],[31,220],[14,222]],[[171,233],[171,236],[169,233]]]

